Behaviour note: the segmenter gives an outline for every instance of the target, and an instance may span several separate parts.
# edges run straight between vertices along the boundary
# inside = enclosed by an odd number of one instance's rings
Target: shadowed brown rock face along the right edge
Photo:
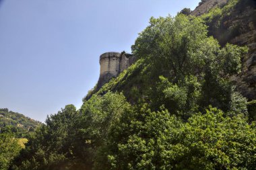
[[[232,38],[230,43],[248,46],[249,52],[243,58],[243,71],[232,77],[238,90],[248,99],[256,99],[256,5],[247,6],[243,11],[234,11],[226,26],[238,26],[240,35]]]

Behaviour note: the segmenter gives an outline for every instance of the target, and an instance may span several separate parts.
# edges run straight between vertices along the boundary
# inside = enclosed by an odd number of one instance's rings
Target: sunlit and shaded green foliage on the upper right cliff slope
[[[231,22],[230,19],[243,19],[242,22],[246,20],[251,20],[255,24],[255,2],[251,0],[230,0],[223,7],[216,7],[211,9],[208,13],[201,15],[201,18],[205,21],[205,24],[209,26],[209,35],[217,38],[222,46],[227,42],[230,42],[236,36],[240,36],[244,30],[241,22]],[[251,15],[243,16],[241,18],[241,13],[246,13],[247,10],[251,10],[253,13]],[[232,19],[231,19],[232,21]]]

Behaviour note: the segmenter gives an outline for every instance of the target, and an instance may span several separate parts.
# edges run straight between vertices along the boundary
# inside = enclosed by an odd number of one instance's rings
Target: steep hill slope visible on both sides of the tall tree
[[[249,100],[256,99],[256,1],[252,0],[207,0],[192,11],[191,15],[199,15],[208,26],[208,36],[214,36],[221,46],[227,43],[248,46],[249,52],[241,58],[241,72],[230,75],[236,89]],[[146,73],[147,62],[140,61],[121,73],[117,79],[106,83],[98,92],[90,91],[85,99],[93,93],[104,94],[106,91],[123,91],[130,100],[131,93],[147,96],[145,86],[152,80]],[[134,71],[133,71],[134,69]],[[146,72],[145,72],[146,71]],[[143,87],[143,88],[141,88]],[[135,97],[136,98],[136,97]]]

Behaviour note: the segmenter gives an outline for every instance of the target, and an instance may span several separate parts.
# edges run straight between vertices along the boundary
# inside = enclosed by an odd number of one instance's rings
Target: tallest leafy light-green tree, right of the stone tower
[[[162,75],[171,82],[164,89],[162,79],[153,83],[148,94],[152,107],[165,104],[174,114],[204,110],[208,105],[227,111],[232,93],[227,77],[240,71],[241,56],[246,52],[247,48],[231,44],[220,48],[217,40],[207,37],[203,20],[183,14],[152,17],[133,46],[133,53],[150,65],[152,79]]]

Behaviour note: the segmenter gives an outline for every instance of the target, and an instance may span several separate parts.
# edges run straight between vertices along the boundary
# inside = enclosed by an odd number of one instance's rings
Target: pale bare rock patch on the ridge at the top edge
[[[227,1],[228,0],[205,0],[191,12],[191,15],[199,16],[203,13],[207,13],[214,7],[225,5]]]

